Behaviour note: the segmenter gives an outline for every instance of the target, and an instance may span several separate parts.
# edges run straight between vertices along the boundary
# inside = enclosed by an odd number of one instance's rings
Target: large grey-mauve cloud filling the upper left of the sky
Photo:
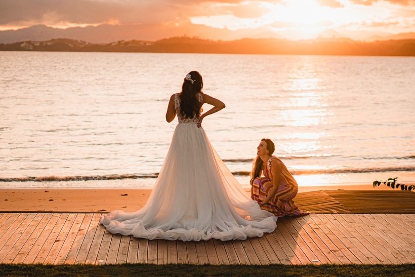
[[[240,0],[215,1],[238,3]],[[0,0],[0,25],[34,22],[93,24],[117,20],[120,24],[160,23],[203,13],[209,0]]]

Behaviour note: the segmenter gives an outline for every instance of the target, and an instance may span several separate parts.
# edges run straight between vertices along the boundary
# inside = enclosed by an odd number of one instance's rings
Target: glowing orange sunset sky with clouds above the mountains
[[[0,30],[136,25],[140,39],[318,36],[366,39],[415,32],[415,0],[0,0]]]

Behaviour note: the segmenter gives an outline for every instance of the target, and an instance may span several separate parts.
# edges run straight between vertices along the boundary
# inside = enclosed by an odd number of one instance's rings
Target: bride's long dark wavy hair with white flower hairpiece
[[[193,117],[196,114],[200,116],[202,103],[197,98],[197,93],[202,93],[203,80],[202,76],[197,71],[189,72],[191,80],[186,78],[183,81],[182,93],[180,94],[180,113],[183,117]]]

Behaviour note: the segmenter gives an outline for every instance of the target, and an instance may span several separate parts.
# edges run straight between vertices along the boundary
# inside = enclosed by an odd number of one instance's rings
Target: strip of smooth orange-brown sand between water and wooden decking
[[[299,193],[317,190],[391,190],[372,185],[303,186]],[[249,188],[246,188],[249,195]],[[133,212],[146,203],[151,189],[0,189],[0,212]]]

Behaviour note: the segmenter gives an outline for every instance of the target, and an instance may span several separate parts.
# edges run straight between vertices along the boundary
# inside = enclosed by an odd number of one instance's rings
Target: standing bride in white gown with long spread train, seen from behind
[[[202,76],[191,71],[181,93],[171,96],[165,117],[172,122],[177,115],[179,124],[154,189],[141,210],[103,215],[100,222],[109,232],[149,240],[228,241],[276,228],[277,217],[246,195],[201,128],[204,117],[225,107],[202,88]],[[200,114],[204,103],[214,107]]]

